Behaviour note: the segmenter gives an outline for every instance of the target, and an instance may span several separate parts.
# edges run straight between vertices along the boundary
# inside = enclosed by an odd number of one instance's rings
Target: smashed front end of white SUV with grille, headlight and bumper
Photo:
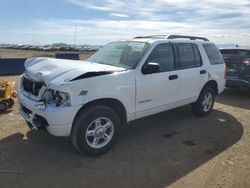
[[[71,107],[69,93],[52,89],[44,81],[31,79],[24,74],[18,96],[20,113],[31,129],[48,130],[56,136],[67,136],[70,133],[69,128],[61,132],[54,131],[53,128],[58,124],[71,126],[73,113],[78,109]]]

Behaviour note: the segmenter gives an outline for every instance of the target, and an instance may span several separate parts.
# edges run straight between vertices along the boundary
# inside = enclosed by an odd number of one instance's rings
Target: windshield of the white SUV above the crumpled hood
[[[145,42],[114,42],[104,46],[88,61],[132,69],[137,66],[147,48]]]

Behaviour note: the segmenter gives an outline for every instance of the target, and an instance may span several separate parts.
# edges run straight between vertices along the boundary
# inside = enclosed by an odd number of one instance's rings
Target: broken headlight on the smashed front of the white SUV
[[[46,104],[55,104],[56,106],[69,106],[70,96],[68,93],[61,91],[54,91],[48,89],[43,95],[43,100]]]

